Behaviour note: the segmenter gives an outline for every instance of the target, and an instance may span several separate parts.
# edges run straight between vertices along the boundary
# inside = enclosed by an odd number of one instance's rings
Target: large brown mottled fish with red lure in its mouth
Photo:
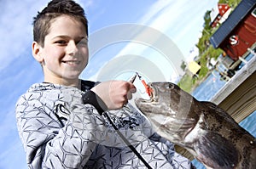
[[[150,99],[135,104],[155,132],[187,149],[207,168],[256,168],[256,140],[218,105],[172,82],[149,82]]]

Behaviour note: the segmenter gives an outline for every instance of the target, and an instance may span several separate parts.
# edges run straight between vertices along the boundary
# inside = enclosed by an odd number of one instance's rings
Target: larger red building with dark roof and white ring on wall
[[[214,48],[222,48],[233,60],[246,57],[256,46],[256,1],[242,0],[210,38]]]

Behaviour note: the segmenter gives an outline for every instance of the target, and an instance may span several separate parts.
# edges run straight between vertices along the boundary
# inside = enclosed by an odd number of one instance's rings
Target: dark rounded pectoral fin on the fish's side
[[[195,147],[197,159],[212,168],[235,168],[239,152],[234,144],[216,132],[207,132]]]

